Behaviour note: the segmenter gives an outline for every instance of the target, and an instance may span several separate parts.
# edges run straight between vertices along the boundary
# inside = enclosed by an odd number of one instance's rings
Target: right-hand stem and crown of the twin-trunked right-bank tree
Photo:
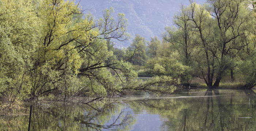
[[[248,28],[247,24],[250,20],[250,11],[246,8],[245,1],[243,0],[211,0],[209,1],[211,7],[208,11],[211,16],[214,17],[217,26],[217,32],[220,36],[217,46],[219,56],[217,57],[219,67],[217,70],[216,81],[213,86],[218,87],[222,78],[223,72],[225,72],[230,65],[229,53],[234,53],[245,47],[246,44],[238,43],[235,40],[245,35],[245,31]]]

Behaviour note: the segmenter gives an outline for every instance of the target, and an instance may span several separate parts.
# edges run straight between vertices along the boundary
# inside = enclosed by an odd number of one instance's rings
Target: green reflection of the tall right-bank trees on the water
[[[198,91],[196,91],[198,92]],[[212,90],[189,92],[187,98],[140,99],[128,101],[134,111],[159,114],[162,127],[176,131],[241,131],[255,130],[255,92],[251,90]],[[248,108],[248,93],[252,94]],[[205,97],[193,97],[202,96]],[[246,118],[249,117],[249,118]]]

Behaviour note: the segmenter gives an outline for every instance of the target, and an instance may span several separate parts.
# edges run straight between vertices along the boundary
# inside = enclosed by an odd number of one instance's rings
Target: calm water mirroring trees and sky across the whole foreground
[[[28,115],[0,116],[0,131],[26,131],[28,118]],[[191,89],[168,97],[132,96],[91,106],[34,108],[31,128],[31,131],[256,131],[256,93]]]

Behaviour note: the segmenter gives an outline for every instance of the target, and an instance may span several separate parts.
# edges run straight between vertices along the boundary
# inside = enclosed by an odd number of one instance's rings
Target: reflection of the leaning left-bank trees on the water
[[[27,118],[9,117],[5,120],[0,117],[3,127],[0,130],[27,130]],[[15,125],[15,122],[22,122]],[[49,108],[34,108],[31,130],[61,130],[61,131],[98,131],[103,129],[129,130],[136,122],[121,103],[95,103],[91,106],[70,105],[52,106]]]

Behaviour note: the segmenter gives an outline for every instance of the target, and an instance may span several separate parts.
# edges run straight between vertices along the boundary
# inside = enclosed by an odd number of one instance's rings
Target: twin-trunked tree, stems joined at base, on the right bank
[[[204,79],[208,87],[218,87],[223,73],[232,68],[237,52],[246,46],[236,40],[248,28],[250,14],[245,1],[211,0],[208,3],[208,7],[202,7],[191,1],[185,14],[186,20],[192,22],[197,40],[193,60],[200,74],[195,75]]]

